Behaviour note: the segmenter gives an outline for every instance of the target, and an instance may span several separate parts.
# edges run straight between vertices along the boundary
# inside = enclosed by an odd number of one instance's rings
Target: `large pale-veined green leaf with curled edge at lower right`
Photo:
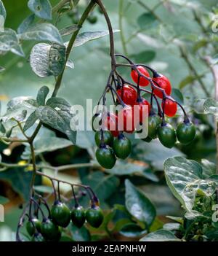
[[[215,182],[203,180],[202,166],[194,160],[169,158],[164,163],[164,171],[171,192],[188,211],[193,209],[198,193],[209,197],[216,190]]]

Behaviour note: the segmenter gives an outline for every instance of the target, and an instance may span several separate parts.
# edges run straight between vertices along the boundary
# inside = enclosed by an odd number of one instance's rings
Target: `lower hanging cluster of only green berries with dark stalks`
[[[43,176],[44,174],[41,173],[41,175]],[[54,179],[52,177],[50,177],[50,179],[55,195],[52,208],[49,208],[45,198],[34,192],[20,217],[17,226],[16,241],[23,241],[20,237],[20,228],[22,228],[24,224],[28,235],[31,236],[31,241],[59,241],[63,229],[67,228],[70,222],[77,228],[81,228],[85,222],[88,222],[89,225],[94,228],[98,228],[102,224],[104,217],[102,209],[100,209],[99,206],[100,202],[91,187],[63,182],[72,187],[75,205],[73,209],[70,209],[67,203],[62,201],[60,195],[60,182],[62,181],[58,181],[56,191]],[[74,186],[81,187],[85,191],[80,191],[80,193],[76,195]],[[86,195],[89,195],[90,198],[89,209],[84,209],[83,206],[78,203],[78,199]],[[46,213],[44,210],[46,210]]]

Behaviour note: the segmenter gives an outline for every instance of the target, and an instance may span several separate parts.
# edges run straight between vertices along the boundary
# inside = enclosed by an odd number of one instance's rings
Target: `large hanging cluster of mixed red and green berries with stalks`
[[[142,140],[150,142],[158,138],[163,146],[171,148],[177,140],[182,144],[189,144],[195,138],[195,125],[190,122],[185,109],[171,97],[171,83],[163,74],[142,64],[134,64],[124,55],[128,63],[116,63],[110,72],[108,83],[98,102],[102,102],[103,109],[92,118],[92,128],[97,144],[96,158],[104,168],[113,168],[116,158],[125,159],[131,152],[131,142],[124,136],[125,133],[140,133],[145,118],[148,118],[148,136]],[[133,82],[127,82],[117,68],[123,66],[131,68]],[[151,90],[145,90],[150,85]],[[115,112],[106,109],[106,93],[113,97]],[[141,93],[150,93],[150,102],[141,96]],[[155,111],[156,104],[158,111]],[[118,106],[118,108],[117,108]],[[174,117],[177,106],[184,113],[184,120],[175,130],[166,121],[165,116]],[[118,109],[118,110],[117,110]],[[135,115],[137,109],[138,115]],[[146,115],[147,114],[147,115]],[[121,125],[120,125],[121,124]]]

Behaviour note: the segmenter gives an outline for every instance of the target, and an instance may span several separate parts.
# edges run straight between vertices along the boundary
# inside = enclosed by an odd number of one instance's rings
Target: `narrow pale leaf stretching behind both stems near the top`
[[[118,30],[113,30],[113,33],[118,32]],[[85,31],[81,34],[78,34],[76,37],[76,40],[73,44],[73,47],[78,47],[86,42],[89,42],[91,40],[99,39],[104,36],[108,36],[109,31],[108,30],[102,30],[102,31]],[[68,45],[68,42],[65,43],[65,46]]]

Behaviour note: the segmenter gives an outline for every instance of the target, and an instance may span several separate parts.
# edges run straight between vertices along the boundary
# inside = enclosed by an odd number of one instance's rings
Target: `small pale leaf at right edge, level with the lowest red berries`
[[[218,113],[218,103],[213,98],[198,98],[194,101],[193,107],[198,114],[214,114]]]

